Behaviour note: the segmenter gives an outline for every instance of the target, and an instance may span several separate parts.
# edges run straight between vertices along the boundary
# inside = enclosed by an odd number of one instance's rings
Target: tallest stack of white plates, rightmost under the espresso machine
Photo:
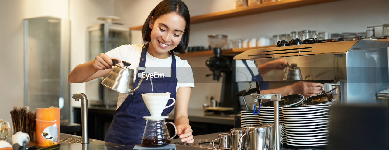
[[[331,104],[283,107],[287,145],[316,148],[328,144]]]

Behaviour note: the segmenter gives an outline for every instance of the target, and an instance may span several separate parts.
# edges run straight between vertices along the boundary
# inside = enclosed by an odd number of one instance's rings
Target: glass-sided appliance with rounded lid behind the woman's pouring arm
[[[112,20],[119,20],[120,17],[104,16],[98,17],[105,20],[105,23],[89,26],[87,28],[87,59],[91,61],[100,53],[105,53],[121,45],[131,44],[130,27]],[[100,83],[104,77],[96,78],[86,82],[86,94],[89,104],[96,106],[115,106],[118,93],[114,90],[104,88]]]

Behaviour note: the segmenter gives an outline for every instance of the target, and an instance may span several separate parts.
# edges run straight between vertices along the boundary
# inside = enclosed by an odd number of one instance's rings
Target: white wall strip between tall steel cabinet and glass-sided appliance
[[[96,18],[105,15],[114,15],[114,0],[70,0],[70,70],[87,62],[86,28],[103,23]],[[70,94],[85,91],[85,83],[70,84]],[[70,101],[81,107],[81,102]]]

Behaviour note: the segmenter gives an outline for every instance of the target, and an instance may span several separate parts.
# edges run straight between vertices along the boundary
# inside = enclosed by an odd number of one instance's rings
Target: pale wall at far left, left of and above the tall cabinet
[[[68,19],[66,0],[1,0],[0,119],[11,122],[10,111],[23,106],[23,19],[53,16]]]

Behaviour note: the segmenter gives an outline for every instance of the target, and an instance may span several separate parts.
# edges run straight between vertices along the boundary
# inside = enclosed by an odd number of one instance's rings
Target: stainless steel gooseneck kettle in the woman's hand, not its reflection
[[[112,59],[112,62],[114,63],[114,67],[112,67],[112,70],[108,73],[107,77],[103,79],[101,84],[117,92],[132,95],[133,92],[139,88],[144,78],[141,78],[137,87],[133,89],[134,70],[128,68],[131,63],[123,61],[124,66],[121,66],[115,59]]]

